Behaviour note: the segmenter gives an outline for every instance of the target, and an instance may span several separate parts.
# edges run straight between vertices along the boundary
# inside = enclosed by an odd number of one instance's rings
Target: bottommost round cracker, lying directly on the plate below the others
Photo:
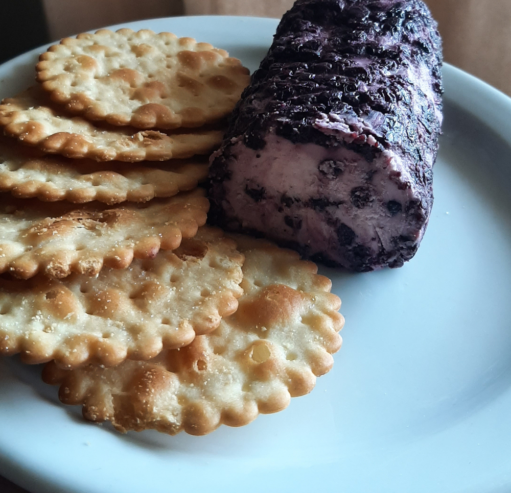
[[[87,420],[121,431],[203,435],[284,409],[312,390],[341,346],[344,319],[331,282],[312,262],[272,243],[237,236],[244,294],[218,329],[179,351],[114,368],[65,371],[49,363],[47,383]]]

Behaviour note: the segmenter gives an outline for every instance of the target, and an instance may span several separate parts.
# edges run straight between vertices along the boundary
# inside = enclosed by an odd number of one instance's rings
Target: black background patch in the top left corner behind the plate
[[[50,41],[40,0],[0,0],[0,63]]]

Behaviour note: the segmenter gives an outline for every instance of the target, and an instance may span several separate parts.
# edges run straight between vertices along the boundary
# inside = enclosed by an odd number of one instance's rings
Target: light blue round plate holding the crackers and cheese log
[[[126,24],[226,48],[250,69],[276,20]],[[0,67],[29,85],[34,52]],[[341,274],[346,317],[332,371],[288,409],[176,437],[87,424],[0,363],[0,473],[34,493],[497,493],[511,491],[511,100],[444,67],[445,125],[422,246],[397,270]]]

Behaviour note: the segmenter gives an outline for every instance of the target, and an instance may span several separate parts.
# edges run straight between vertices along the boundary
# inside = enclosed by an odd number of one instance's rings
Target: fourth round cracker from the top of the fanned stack
[[[206,222],[204,190],[147,204],[115,208],[41,204],[0,196],[0,273],[29,279],[38,273],[62,279],[96,276],[103,266],[125,269],[134,258],[154,258],[178,248]]]

